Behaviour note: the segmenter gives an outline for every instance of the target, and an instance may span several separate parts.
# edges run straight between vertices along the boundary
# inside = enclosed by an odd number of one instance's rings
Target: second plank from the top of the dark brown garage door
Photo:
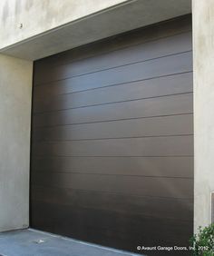
[[[124,64],[131,64],[170,54],[191,51],[191,33],[176,34],[167,38],[134,45],[116,52],[101,54],[44,70],[35,76],[34,84],[44,84],[77,75],[94,73]]]

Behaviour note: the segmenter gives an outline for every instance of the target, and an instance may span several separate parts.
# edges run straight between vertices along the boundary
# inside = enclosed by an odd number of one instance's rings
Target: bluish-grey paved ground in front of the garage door
[[[131,256],[102,246],[75,241],[42,231],[23,230],[0,233],[2,256]]]

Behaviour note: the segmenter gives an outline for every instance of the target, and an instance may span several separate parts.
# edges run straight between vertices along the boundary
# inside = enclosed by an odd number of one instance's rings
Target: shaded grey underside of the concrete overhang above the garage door
[[[115,34],[191,13],[191,0],[131,0],[0,49],[36,60]]]

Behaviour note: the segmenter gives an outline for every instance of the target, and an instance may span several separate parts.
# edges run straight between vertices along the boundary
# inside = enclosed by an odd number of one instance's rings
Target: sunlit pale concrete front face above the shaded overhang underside
[[[123,2],[127,0],[2,0],[0,48]]]

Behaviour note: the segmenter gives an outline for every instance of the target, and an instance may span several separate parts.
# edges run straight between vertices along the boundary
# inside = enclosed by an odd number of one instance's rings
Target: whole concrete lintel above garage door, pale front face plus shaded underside
[[[17,14],[12,11],[13,3],[19,10]],[[0,51],[35,60],[190,14],[191,0],[0,1],[0,11],[4,8],[7,12],[0,26]],[[22,28],[17,28],[19,23],[23,23]]]

